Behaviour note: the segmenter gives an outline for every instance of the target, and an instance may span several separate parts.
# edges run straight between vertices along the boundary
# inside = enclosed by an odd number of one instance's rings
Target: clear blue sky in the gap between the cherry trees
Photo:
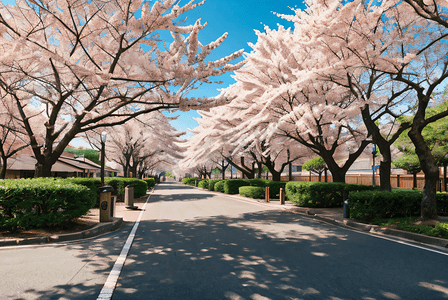
[[[1,0],[4,4],[14,4],[13,0]],[[179,5],[188,3],[189,0],[181,0]],[[196,1],[196,3],[199,1]],[[250,52],[251,48],[247,43],[255,43],[257,36],[254,30],[264,31],[264,26],[277,28],[277,24],[285,27],[293,27],[291,22],[287,22],[273,12],[292,14],[290,9],[304,5],[301,1],[292,0],[206,0],[202,6],[196,7],[188,12],[187,23],[192,24],[197,19],[201,23],[207,22],[207,26],[201,30],[199,40],[202,44],[210,43],[219,38],[225,32],[228,33],[227,39],[214,52],[211,59],[219,59],[229,55],[239,49]],[[222,85],[202,85],[189,95],[194,97],[212,97],[219,94],[217,89],[225,88],[234,83],[230,77],[231,74],[225,74],[219,78],[212,78],[216,81],[224,81]],[[193,117],[199,117],[195,111],[176,112],[171,116],[177,116],[177,120],[172,121],[172,125],[178,130],[193,129],[198,124]]]

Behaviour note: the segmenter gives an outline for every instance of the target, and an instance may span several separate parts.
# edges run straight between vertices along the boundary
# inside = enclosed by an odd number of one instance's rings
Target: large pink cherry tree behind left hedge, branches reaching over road
[[[0,88],[14,104],[37,159],[36,176],[89,130],[164,109],[206,109],[225,99],[187,98],[212,76],[238,69],[242,51],[207,57],[225,40],[202,45],[206,24],[182,23],[200,3],[175,0],[18,0],[0,4]],[[171,36],[171,38],[167,38]],[[27,114],[38,107],[45,117]]]

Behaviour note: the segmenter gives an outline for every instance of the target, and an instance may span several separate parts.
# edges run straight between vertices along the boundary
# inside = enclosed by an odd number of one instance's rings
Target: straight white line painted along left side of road
[[[143,205],[140,214],[138,215],[137,222],[135,222],[134,227],[132,227],[131,233],[126,240],[123,249],[121,249],[121,253],[115,261],[114,267],[112,268],[112,271],[110,271],[106,283],[104,283],[104,286],[101,289],[97,300],[109,300],[112,298],[112,295],[115,291],[115,286],[117,285],[118,277],[120,277],[121,270],[123,269],[124,263],[126,262],[126,257],[128,256],[129,250],[131,249],[135,233],[137,232],[137,228],[140,225],[143,212],[146,210],[146,204],[148,203],[150,197],[151,195],[149,195],[146,199],[146,202]]]

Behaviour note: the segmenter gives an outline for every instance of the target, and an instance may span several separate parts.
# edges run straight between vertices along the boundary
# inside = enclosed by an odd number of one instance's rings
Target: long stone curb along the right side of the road
[[[194,187],[197,189],[201,189],[198,187]],[[204,191],[208,191],[205,189],[201,189]],[[230,198],[237,198],[240,200],[245,200],[248,202],[257,202],[259,204],[263,204],[266,206],[271,206],[269,203],[264,202],[262,200],[258,201],[257,199],[252,199],[252,198],[247,198],[247,197],[243,197],[240,195],[228,195],[228,194],[222,194],[219,192],[214,192],[214,191],[208,191],[211,193],[214,193],[216,195],[225,195],[225,196],[230,196]],[[291,213],[294,214],[298,214],[301,216],[304,216],[306,218],[311,218],[314,220],[319,220],[328,224],[332,224],[338,227],[343,227],[343,228],[349,228],[349,229],[353,229],[353,230],[357,230],[357,231],[363,231],[363,232],[368,232],[371,234],[375,234],[375,235],[383,235],[383,236],[393,236],[393,237],[398,237],[398,238],[404,238],[407,240],[411,240],[414,242],[419,242],[422,244],[426,244],[426,245],[432,245],[432,246],[437,246],[437,247],[442,247],[442,248],[448,248],[448,239],[442,239],[442,238],[438,238],[438,237],[432,237],[432,236],[427,236],[427,235],[423,235],[423,234],[419,234],[419,233],[414,233],[414,232],[409,232],[409,231],[404,231],[404,230],[396,230],[396,229],[390,229],[390,228],[384,228],[378,225],[371,225],[371,224],[364,224],[364,223],[359,223],[356,221],[353,221],[351,219],[344,219],[344,220],[335,220],[333,218],[328,218],[328,217],[324,217],[324,216],[320,216],[319,214],[316,214],[315,211],[313,211],[311,208],[307,209],[307,208],[302,208],[300,209],[300,211],[298,209],[298,206],[279,206],[279,208],[284,209],[285,211],[289,211]]]

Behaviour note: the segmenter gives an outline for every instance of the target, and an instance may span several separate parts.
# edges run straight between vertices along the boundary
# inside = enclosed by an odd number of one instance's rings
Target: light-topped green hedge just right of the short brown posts
[[[342,207],[344,191],[378,190],[379,187],[341,182],[290,181],[286,184],[286,197],[299,206]]]

